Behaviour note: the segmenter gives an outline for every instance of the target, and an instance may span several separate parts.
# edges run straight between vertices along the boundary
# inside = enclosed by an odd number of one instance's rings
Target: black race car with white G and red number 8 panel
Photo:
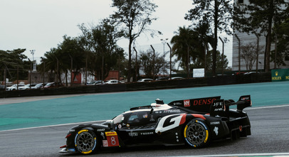
[[[229,109],[236,105],[236,109]],[[105,147],[149,144],[206,146],[216,139],[251,135],[243,109],[251,107],[250,95],[238,102],[221,97],[184,99],[134,107],[103,124],[85,124],[69,130],[62,153],[95,153]]]

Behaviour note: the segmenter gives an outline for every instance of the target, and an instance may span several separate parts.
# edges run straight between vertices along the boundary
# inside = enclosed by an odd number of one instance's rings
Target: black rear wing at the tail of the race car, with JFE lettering
[[[238,102],[234,102],[232,99],[224,100],[224,99],[216,99],[213,104],[211,105],[210,115],[215,117],[219,116],[226,116],[226,112],[229,111],[229,107],[232,105],[237,105],[237,111],[242,112],[243,109],[246,107],[251,107],[251,96],[250,95],[243,95],[238,99]]]

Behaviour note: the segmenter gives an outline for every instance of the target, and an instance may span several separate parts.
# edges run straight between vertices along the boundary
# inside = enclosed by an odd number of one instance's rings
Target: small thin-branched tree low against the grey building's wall
[[[246,70],[252,70],[252,67],[257,59],[257,43],[242,45],[241,50],[241,58],[243,58],[246,63]],[[261,51],[258,53],[261,54]]]

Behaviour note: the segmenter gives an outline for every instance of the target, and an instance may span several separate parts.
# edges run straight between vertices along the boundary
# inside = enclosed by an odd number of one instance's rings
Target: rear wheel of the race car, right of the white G
[[[204,121],[193,119],[184,127],[186,144],[194,148],[201,148],[209,144],[210,131]]]

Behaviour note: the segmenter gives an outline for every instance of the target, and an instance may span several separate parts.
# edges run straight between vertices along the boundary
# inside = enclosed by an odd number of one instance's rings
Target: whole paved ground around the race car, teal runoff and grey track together
[[[258,153],[264,156],[264,153],[289,155],[288,87],[289,82],[269,82],[176,90],[2,99],[0,101],[0,130],[2,130],[0,131],[0,156],[78,156],[79,154],[58,153],[59,146],[65,144],[64,137],[68,129],[75,126],[75,124],[62,124],[110,119],[130,107],[154,102],[157,97],[164,99],[165,102],[215,95],[236,100],[242,94],[251,94],[253,99],[253,107],[245,110],[252,126],[252,135],[248,138],[238,141],[228,139],[214,141],[208,148],[201,149],[184,148],[184,146],[147,146],[103,151],[93,156],[216,156],[218,154],[235,156],[243,153]],[[58,126],[47,126],[57,124]],[[22,129],[34,126],[43,127]]]

